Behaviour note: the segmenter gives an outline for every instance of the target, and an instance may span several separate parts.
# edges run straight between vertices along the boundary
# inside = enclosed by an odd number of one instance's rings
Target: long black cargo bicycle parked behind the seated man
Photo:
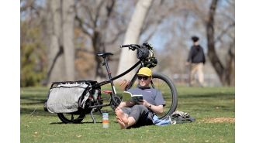
[[[99,111],[102,114],[102,107],[110,106],[112,110],[115,111],[115,108],[120,104],[122,101],[122,96],[116,93],[116,88],[114,86],[113,81],[123,77],[130,71],[134,70],[137,66],[140,65],[138,70],[141,67],[147,66],[149,68],[154,68],[157,66],[157,59],[154,57],[153,47],[150,46],[149,43],[144,43],[142,46],[137,44],[129,44],[129,45],[121,45],[120,48],[129,48],[131,50],[137,50],[137,59],[139,60],[135,63],[130,69],[126,70],[125,72],[119,74],[116,77],[112,77],[109,65],[107,62],[107,57],[112,56],[112,53],[97,53],[97,56],[102,57],[103,63],[102,66],[106,66],[106,71],[109,77],[109,80],[104,80],[102,82],[97,82],[94,80],[78,80],[78,81],[63,81],[63,82],[53,82],[50,86],[50,90],[48,93],[48,98],[50,95],[51,90],[57,87],[61,87],[61,84],[74,84],[74,83],[86,83],[89,86],[85,88],[83,94],[78,99],[78,110],[72,111],[70,113],[57,113],[57,116],[60,120],[64,123],[80,123],[84,118],[85,114],[91,114],[92,120],[95,123],[95,118],[93,117],[93,112]],[[135,82],[137,80],[137,72],[133,75],[132,79],[129,83],[127,83],[124,90],[128,90],[131,87],[135,86]],[[110,83],[112,90],[103,90],[101,91],[101,87]],[[172,82],[170,78],[165,76],[162,73],[153,73],[152,81],[150,83],[150,87],[157,88],[157,90],[161,90],[161,94],[165,100],[164,106],[164,113],[157,114],[157,116],[162,119],[168,117],[168,115],[172,114],[178,104],[178,95],[177,90],[175,88],[175,84]],[[109,94],[110,101],[108,104],[103,104],[102,99],[102,92],[105,94]],[[87,97],[87,98],[85,98]],[[47,98],[47,100],[48,100]],[[86,99],[86,100],[85,100]],[[47,102],[44,104],[44,110],[47,110]]]

